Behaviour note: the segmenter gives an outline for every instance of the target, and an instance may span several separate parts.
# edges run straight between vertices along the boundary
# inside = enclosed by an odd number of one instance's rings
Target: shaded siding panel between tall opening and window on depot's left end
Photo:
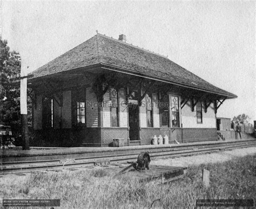
[[[71,128],[71,90],[63,92],[62,128]]]

